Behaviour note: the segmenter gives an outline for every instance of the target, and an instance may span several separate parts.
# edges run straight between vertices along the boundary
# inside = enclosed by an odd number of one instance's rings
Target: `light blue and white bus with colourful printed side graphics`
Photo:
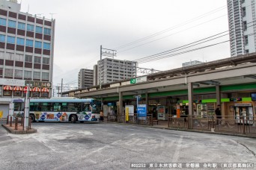
[[[13,99],[13,114],[24,115],[24,99]],[[100,101],[93,98],[30,99],[31,122],[99,122]]]

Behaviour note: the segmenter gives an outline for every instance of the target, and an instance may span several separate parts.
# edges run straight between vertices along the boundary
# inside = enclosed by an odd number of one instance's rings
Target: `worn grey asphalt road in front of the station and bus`
[[[0,127],[0,169],[130,169],[130,163],[183,163],[183,168],[186,163],[200,163],[200,168],[217,163],[220,168],[223,163],[256,163],[256,139],[245,137],[118,124],[32,126],[38,132],[25,135]]]

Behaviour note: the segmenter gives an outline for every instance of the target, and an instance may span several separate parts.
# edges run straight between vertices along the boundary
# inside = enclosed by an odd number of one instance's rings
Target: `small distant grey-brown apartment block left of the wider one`
[[[88,86],[94,85],[94,70],[93,69],[80,69],[78,75],[78,88],[85,89]]]

